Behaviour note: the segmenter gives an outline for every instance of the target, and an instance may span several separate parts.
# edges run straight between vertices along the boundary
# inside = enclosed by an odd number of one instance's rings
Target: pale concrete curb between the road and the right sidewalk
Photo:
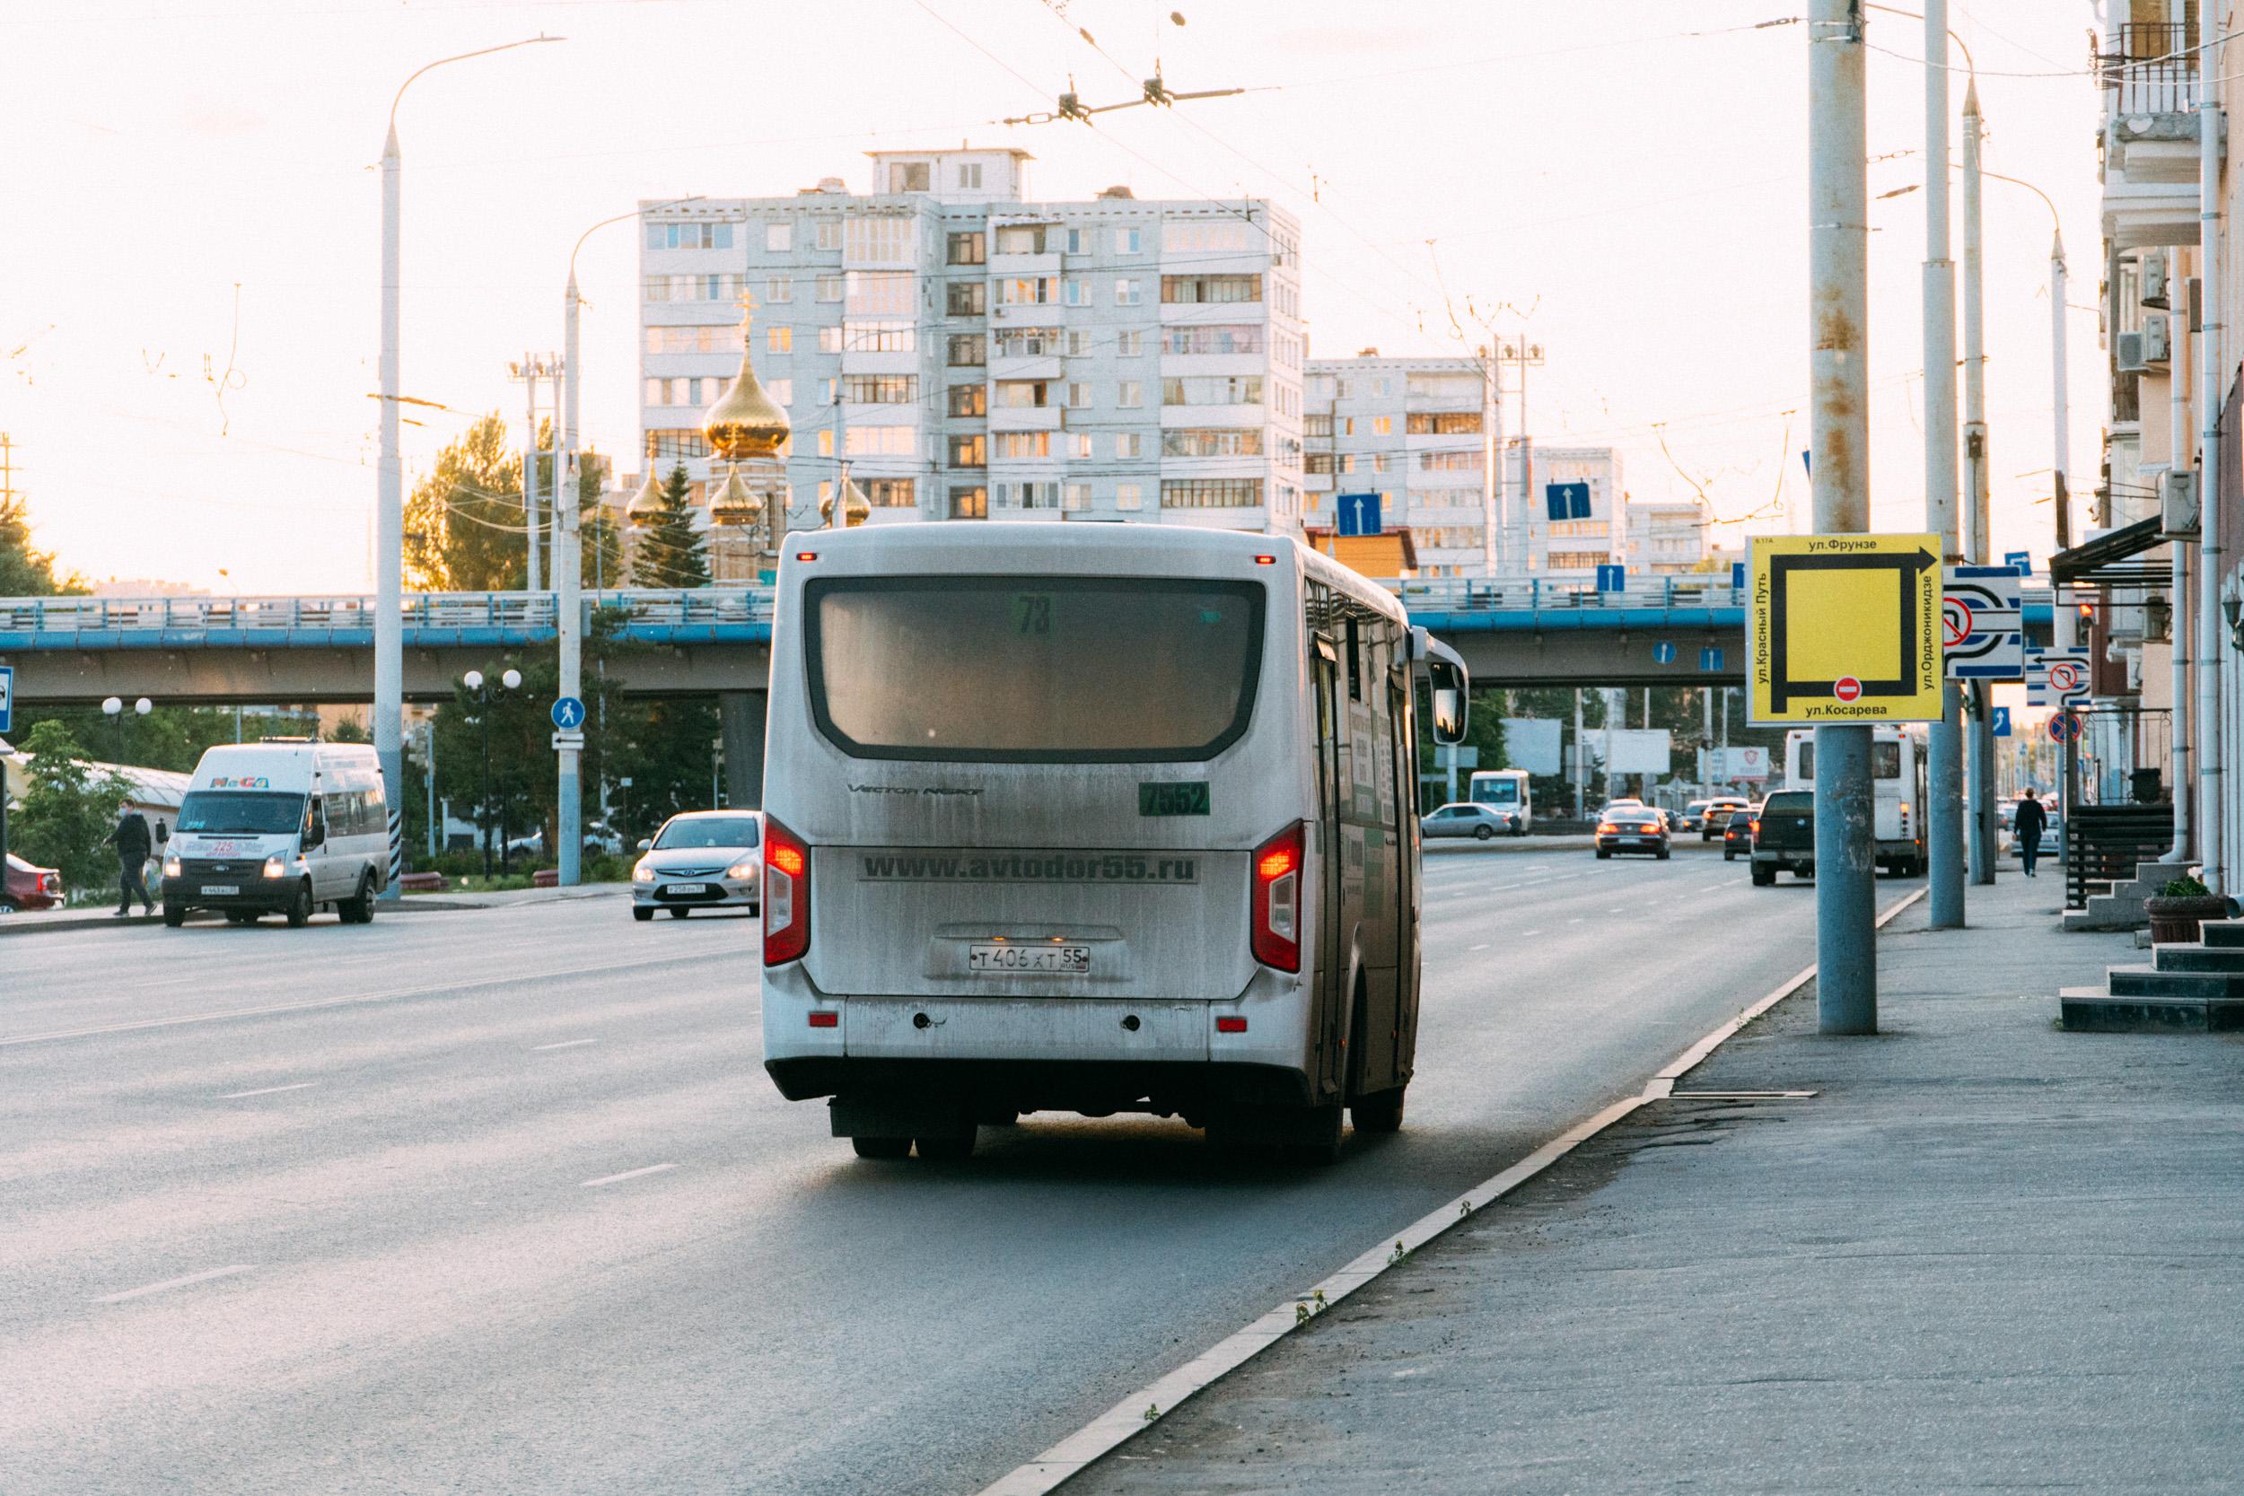
[[[1901,911],[1905,911],[1910,904],[1916,904],[1921,897],[1925,897],[1923,888],[1896,899],[1889,908],[1885,908],[1878,915],[1876,929],[1883,931],[1901,915]],[[1584,1142],[1589,1142],[1604,1128],[1613,1126],[1622,1117],[1629,1117],[1631,1112],[1636,1112],[1643,1106],[1649,1106],[1652,1101],[1665,1101],[1670,1095],[1674,1095],[1676,1081],[1690,1074],[1696,1065],[1705,1063],[1705,1059],[1714,1050],[1719,1050],[1723,1041],[1728,1041],[1732,1034],[1737,1034],[1741,1027],[1766,1014],[1784,998],[1806,987],[1813,978],[1815,978],[1815,967],[1806,967],[1804,971],[1779,985],[1775,991],[1746,1007],[1746,1012],[1741,1012],[1737,1018],[1730,1018],[1719,1029],[1714,1029],[1692,1047],[1683,1050],[1683,1054],[1679,1054],[1670,1065],[1665,1065],[1638,1095],[1613,1101],[1595,1117],[1578,1121],[1575,1126],[1566,1128],[1551,1142],[1542,1144],[1510,1169],[1490,1175],[1488,1180],[1481,1180],[1479,1184],[1468,1189],[1463,1195],[1456,1195],[1447,1204],[1434,1207],[1432,1211],[1407,1225],[1403,1234],[1396,1236],[1394,1245],[1387,1245],[1382,1240],[1378,1247],[1364,1252],[1353,1263],[1344,1265],[1340,1272],[1313,1283],[1297,1299],[1277,1305],[1268,1314],[1261,1314],[1259,1319],[1248,1323],[1243,1330],[1216,1341],[1194,1359],[1171,1370],[1167,1377],[1160,1377],[1158,1382],[1138,1388],[1135,1393],[1131,1393],[1115,1406],[1106,1409],[1104,1413],[1093,1417],[1088,1424],[1084,1424],[1068,1438],[1059,1440],[1057,1444],[1039,1453],[1028,1465],[1021,1465],[1019,1469],[1001,1476],[992,1485],[985,1485],[978,1492],[978,1496],[1046,1496],[1048,1492],[1059,1489],[1086,1465],[1120,1449],[1124,1442],[1129,1442],[1131,1438],[1156,1424],[1160,1417],[1174,1413],[1194,1393],[1214,1386],[1227,1373],[1236,1370],[1239,1366],[1254,1359],[1259,1352],[1286,1339],[1297,1328],[1306,1326],[1310,1319],[1315,1319],[1317,1314],[1326,1312],[1328,1308],[1333,1308],[1335,1303],[1360,1290],[1364,1283],[1371,1283],[1389,1267],[1396,1267],[1403,1260],[1407,1260],[1411,1252],[1427,1245],[1436,1236],[1445,1234],[1450,1227],[1459,1225],[1461,1220],[1470,1220],[1474,1211],[1486,1209],[1497,1200],[1501,1200],[1503,1195],[1512,1193],[1515,1189],[1519,1189],[1521,1184],[1526,1184],[1528,1180],[1546,1171],[1551,1164],[1560,1162],[1562,1157],[1566,1157],[1569,1153],[1573,1153]]]

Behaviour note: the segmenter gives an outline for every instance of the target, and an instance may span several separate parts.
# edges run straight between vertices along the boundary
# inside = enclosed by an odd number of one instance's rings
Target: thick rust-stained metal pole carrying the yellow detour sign
[[[1809,379],[1815,534],[1869,529],[1869,182],[1860,0],[1809,4]],[[1869,727],[1815,729],[1815,1009],[1878,1032]]]

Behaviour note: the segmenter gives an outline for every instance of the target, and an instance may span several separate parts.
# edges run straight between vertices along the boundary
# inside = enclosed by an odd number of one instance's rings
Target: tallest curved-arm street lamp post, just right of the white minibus
[[[381,760],[381,783],[390,805],[390,868],[381,884],[384,899],[404,897],[397,877],[404,872],[404,684],[406,684],[406,630],[404,630],[404,536],[406,496],[404,460],[397,453],[397,238],[399,238],[399,177],[404,159],[397,153],[397,105],[404,103],[413,79],[447,63],[465,63],[471,56],[557,43],[559,36],[530,36],[500,47],[460,52],[415,70],[397,85],[390,99],[388,135],[381,141],[381,462],[375,478],[375,754]]]

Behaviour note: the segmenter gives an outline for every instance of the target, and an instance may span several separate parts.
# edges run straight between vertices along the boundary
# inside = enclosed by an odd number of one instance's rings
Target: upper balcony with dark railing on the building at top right
[[[2103,233],[2114,249],[2195,244],[2197,54],[2181,25],[2123,25],[2100,58]]]

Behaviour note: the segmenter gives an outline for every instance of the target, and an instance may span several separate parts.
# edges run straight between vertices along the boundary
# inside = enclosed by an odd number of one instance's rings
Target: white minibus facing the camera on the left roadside
[[[364,742],[278,740],[206,749],[164,855],[164,924],[215,908],[233,924],[332,904],[368,924],[388,881],[390,812]]]

